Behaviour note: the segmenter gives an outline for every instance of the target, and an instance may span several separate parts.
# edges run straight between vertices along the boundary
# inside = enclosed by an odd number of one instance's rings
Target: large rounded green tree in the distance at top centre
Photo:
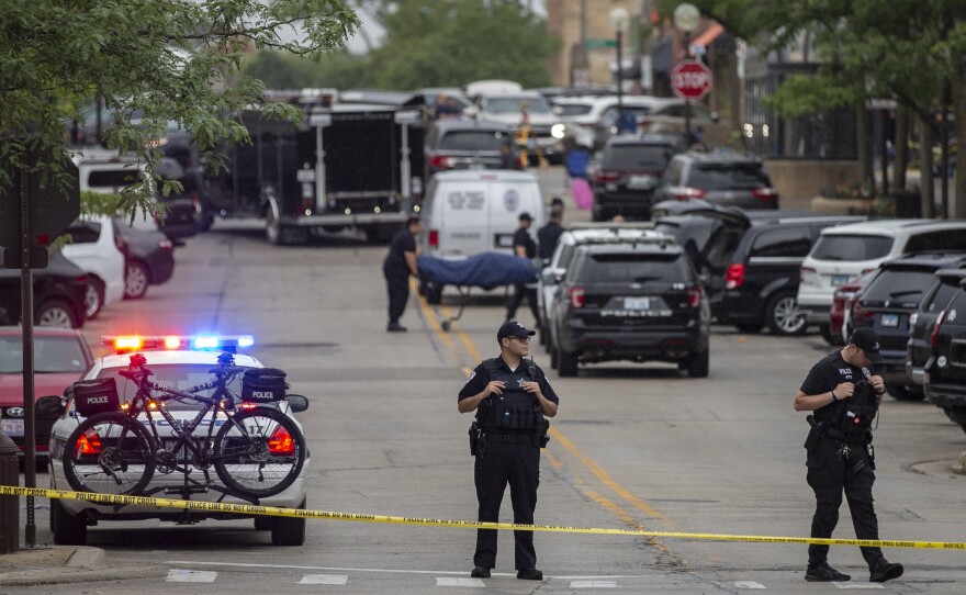
[[[389,89],[459,87],[512,79],[525,87],[551,81],[550,57],[560,41],[543,21],[515,1],[419,0],[373,2],[385,29],[370,53],[378,86]]]

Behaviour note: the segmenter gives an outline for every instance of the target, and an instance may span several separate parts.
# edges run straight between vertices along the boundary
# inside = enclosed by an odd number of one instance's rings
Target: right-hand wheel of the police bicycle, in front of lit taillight
[[[305,464],[295,422],[269,407],[235,414],[215,436],[215,471],[239,495],[268,497],[292,485]]]

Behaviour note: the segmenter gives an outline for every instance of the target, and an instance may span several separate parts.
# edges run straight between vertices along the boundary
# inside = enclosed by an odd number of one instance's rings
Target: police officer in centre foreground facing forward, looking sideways
[[[532,525],[540,484],[540,448],[560,402],[543,370],[529,352],[536,333],[507,321],[496,333],[499,357],[484,360],[460,391],[460,413],[476,412],[470,427],[470,450],[475,456],[474,479],[479,519],[496,523],[509,483],[514,523]],[[517,579],[541,581],[532,531],[514,531]],[[486,579],[496,566],[496,530],[476,531],[475,568],[471,576]]]

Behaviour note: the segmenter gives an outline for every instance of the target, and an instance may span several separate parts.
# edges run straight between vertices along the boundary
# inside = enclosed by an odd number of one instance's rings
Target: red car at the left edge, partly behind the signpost
[[[38,326],[33,333],[34,401],[59,397],[93,361],[79,330]],[[36,412],[34,444],[38,459],[47,458],[55,417]],[[23,327],[0,326],[0,431],[24,450]],[[46,465],[44,465],[46,468]]]

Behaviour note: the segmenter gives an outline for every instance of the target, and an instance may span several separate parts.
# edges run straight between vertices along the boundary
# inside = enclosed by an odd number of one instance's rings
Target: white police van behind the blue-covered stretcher
[[[530,235],[547,223],[537,176],[510,170],[442,171],[433,177],[422,209],[420,254],[459,259],[486,251],[513,254],[520,213]]]

